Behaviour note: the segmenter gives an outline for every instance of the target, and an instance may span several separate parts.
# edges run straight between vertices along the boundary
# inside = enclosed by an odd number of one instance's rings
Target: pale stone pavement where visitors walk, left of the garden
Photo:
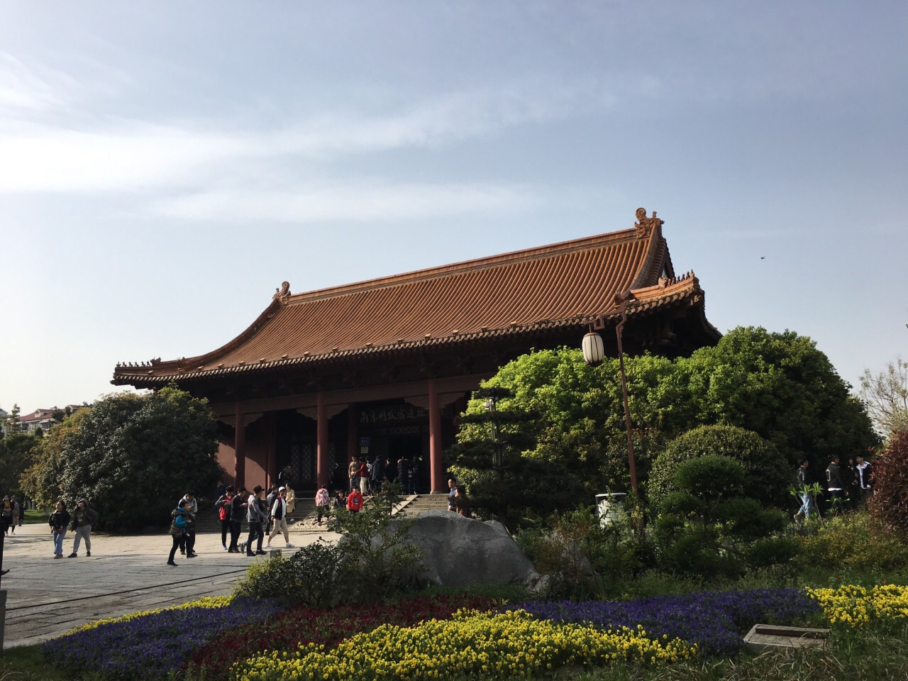
[[[338,535],[291,531],[296,547],[320,537],[335,541]],[[220,533],[203,533],[195,541],[198,558],[184,558],[178,551],[179,567],[172,568],[166,564],[172,543],[163,530],[126,537],[93,533],[91,558],[85,557],[83,544],[78,558],[56,560],[50,528],[16,528],[14,536],[5,538],[3,567],[10,572],[0,582],[7,591],[4,647],[40,643],[95,619],[224,596],[252,561],[265,559],[227,553]],[[283,537],[274,539],[274,548],[283,546]],[[73,533],[67,532],[64,556],[72,551]]]

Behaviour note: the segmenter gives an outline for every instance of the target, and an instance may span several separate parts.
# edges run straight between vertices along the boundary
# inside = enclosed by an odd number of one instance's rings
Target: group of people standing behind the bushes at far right
[[[812,518],[819,512],[816,508],[818,499],[814,498],[812,490],[814,479],[809,468],[810,461],[806,457],[798,461],[795,479],[801,506],[795,513],[795,520]],[[825,489],[825,495],[819,501],[834,513],[858,508],[873,495],[873,465],[860,454],[849,458],[844,466],[839,457],[834,456],[824,471],[820,486]]]

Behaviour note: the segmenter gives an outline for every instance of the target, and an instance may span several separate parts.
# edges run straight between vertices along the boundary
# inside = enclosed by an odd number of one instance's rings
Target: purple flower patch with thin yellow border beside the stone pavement
[[[101,620],[41,646],[44,656],[69,669],[105,676],[159,678],[183,666],[196,647],[218,631],[261,621],[277,612],[273,601],[224,599]]]

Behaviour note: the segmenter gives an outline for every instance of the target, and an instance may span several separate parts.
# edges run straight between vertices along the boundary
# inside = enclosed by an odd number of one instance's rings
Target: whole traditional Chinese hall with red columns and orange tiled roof
[[[577,347],[594,327],[607,351],[626,306],[628,353],[676,356],[716,343],[704,293],[676,276],[662,221],[631,229],[291,293],[284,282],[237,338],[199,357],[118,364],[114,385],[175,382],[207,398],[219,459],[238,484],[290,465],[300,489],[345,485],[370,455],[421,460],[419,491],[447,490],[443,449],[471,390],[529,350]]]

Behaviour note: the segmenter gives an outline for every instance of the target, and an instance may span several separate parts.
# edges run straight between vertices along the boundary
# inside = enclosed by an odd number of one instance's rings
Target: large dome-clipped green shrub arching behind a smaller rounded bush
[[[778,450],[755,432],[734,426],[700,426],[666,445],[649,472],[646,493],[658,507],[676,491],[675,475],[686,460],[718,455],[735,459],[744,467],[745,494],[761,504],[785,501],[790,466]]]

